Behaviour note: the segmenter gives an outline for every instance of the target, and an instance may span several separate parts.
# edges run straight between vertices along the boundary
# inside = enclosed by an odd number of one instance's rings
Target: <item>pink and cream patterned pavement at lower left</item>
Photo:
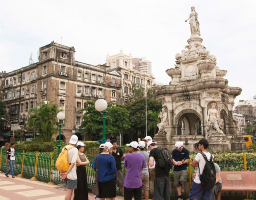
[[[7,178],[0,173],[0,200],[64,200],[65,195],[66,186],[63,184],[51,185],[16,176]],[[88,197],[89,200],[95,199],[92,193],[88,193]],[[123,197],[115,199],[123,200]]]

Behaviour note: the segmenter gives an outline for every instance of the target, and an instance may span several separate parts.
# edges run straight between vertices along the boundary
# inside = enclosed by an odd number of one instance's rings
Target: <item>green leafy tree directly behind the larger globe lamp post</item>
[[[95,109],[92,101],[86,102],[85,114],[81,122],[80,131],[90,139],[102,138],[102,112]],[[106,136],[116,136],[130,128],[129,112],[124,105],[108,103],[106,114]]]

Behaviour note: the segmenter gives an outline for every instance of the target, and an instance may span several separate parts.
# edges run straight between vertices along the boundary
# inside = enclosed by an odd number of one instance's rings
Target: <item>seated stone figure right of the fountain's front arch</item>
[[[208,110],[207,114],[207,121],[209,123],[209,134],[211,133],[219,133],[223,134],[223,131],[221,131],[220,126],[223,123],[223,120],[220,119],[220,116],[218,114],[218,110],[215,108],[216,103],[211,103],[211,108]]]

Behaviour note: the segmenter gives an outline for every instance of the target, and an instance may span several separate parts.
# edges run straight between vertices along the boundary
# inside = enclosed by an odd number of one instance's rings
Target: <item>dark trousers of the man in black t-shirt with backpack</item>
[[[170,199],[170,179],[168,176],[156,178],[154,181],[154,196],[156,200]]]

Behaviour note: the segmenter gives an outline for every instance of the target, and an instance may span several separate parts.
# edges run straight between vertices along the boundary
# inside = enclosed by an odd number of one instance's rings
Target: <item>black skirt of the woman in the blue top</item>
[[[116,197],[116,179],[112,178],[106,182],[99,181],[99,198],[114,198]]]

